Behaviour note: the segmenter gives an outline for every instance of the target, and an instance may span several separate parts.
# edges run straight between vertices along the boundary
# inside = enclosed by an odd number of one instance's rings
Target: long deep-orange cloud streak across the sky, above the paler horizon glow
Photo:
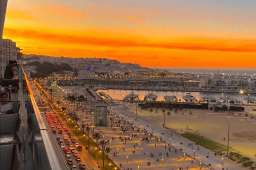
[[[37,31],[37,30],[21,30],[6,28],[4,35],[7,37],[22,37],[25,39],[38,39],[43,42],[49,41],[59,44],[79,44],[79,45],[95,45],[108,47],[153,47],[165,49],[186,49],[186,50],[212,50],[222,52],[256,52],[256,40],[249,42],[233,41],[233,40],[207,40],[207,39],[188,39],[172,42],[173,40],[165,40],[155,42],[148,38],[124,38],[109,35],[108,37],[96,35],[60,35],[57,33]]]

